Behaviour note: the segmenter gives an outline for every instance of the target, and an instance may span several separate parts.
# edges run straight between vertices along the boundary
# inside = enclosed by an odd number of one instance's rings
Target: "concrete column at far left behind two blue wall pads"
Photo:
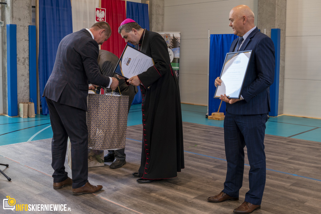
[[[18,102],[29,101],[29,38],[28,26],[32,24],[31,0],[7,0],[1,5],[2,27],[2,90],[3,112],[8,114],[7,89],[7,24],[17,25],[17,94]]]

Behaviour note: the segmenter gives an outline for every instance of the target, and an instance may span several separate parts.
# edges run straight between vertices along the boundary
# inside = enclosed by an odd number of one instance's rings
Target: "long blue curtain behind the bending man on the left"
[[[43,90],[55,64],[58,45],[73,32],[70,0],[39,0],[39,90],[42,114],[49,113]]]

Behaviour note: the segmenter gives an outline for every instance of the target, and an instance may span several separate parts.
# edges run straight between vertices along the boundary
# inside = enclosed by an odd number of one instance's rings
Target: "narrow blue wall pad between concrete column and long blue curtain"
[[[36,26],[29,25],[29,97],[37,112]]]

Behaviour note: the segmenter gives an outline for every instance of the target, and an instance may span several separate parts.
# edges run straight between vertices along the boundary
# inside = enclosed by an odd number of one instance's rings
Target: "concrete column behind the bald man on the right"
[[[258,0],[257,28],[271,37],[272,28],[281,29],[278,114],[283,114],[286,0]]]

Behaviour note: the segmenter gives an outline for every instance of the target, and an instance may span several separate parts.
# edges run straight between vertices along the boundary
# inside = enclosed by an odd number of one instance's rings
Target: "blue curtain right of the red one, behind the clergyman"
[[[133,19],[142,28],[149,30],[149,15],[148,15],[148,4],[129,2],[126,4],[126,18]],[[128,44],[134,47],[132,44]],[[140,93],[140,88],[138,87],[138,93],[135,95],[132,105],[139,104],[142,102],[142,94]]]

